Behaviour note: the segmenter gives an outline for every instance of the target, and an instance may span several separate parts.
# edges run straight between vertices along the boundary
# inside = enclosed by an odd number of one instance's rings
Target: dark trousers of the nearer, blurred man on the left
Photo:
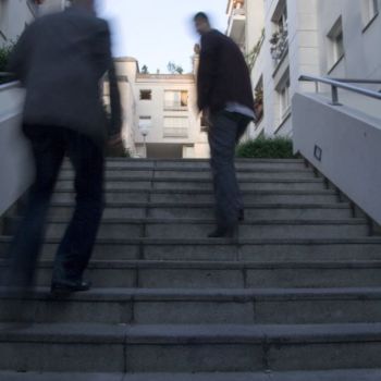
[[[58,126],[24,125],[36,169],[25,214],[9,254],[8,285],[34,283],[50,199],[62,161],[75,171],[76,206],[59,245],[53,281],[81,281],[88,265],[103,210],[103,152],[89,138]]]

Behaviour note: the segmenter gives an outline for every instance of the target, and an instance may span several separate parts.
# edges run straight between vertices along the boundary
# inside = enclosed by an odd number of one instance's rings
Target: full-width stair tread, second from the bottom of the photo
[[[11,329],[10,329],[11,327]],[[13,328],[12,328],[13,327]],[[0,342],[101,344],[297,344],[380,342],[381,323],[334,324],[100,324],[0,323]]]

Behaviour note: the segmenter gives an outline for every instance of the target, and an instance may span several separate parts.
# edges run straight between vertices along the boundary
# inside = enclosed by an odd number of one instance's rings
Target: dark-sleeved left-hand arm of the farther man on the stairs
[[[201,38],[200,63],[197,75],[197,105],[208,109],[217,72],[218,36],[209,33]]]

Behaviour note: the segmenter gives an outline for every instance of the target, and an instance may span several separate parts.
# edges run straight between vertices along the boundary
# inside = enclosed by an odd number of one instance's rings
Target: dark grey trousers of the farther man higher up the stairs
[[[236,177],[235,146],[245,133],[249,118],[221,111],[211,115],[208,138],[216,196],[216,218],[220,229],[234,229],[244,202]]]

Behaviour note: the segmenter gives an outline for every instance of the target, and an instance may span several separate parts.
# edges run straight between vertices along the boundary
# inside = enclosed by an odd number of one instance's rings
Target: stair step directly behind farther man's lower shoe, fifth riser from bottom
[[[14,226],[16,223],[14,224]],[[47,237],[63,236],[67,221],[49,221]],[[214,220],[206,219],[121,219],[103,220],[99,238],[206,237],[216,228]],[[14,231],[9,232],[12,234]],[[346,220],[246,220],[237,231],[241,238],[345,238],[369,235],[369,225],[362,219]]]

